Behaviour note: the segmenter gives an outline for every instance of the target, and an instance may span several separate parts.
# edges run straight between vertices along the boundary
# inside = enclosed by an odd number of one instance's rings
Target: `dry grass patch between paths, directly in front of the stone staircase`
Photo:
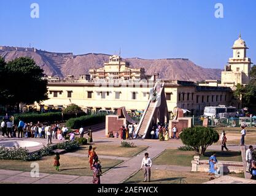
[[[145,151],[147,146],[136,146],[134,148],[125,148],[118,145],[103,145],[103,144],[95,144],[96,146],[96,153],[98,155],[106,155],[106,156],[116,156],[116,157],[133,157],[137,154]],[[88,147],[89,146],[80,146],[79,150],[76,153],[81,154],[88,154]]]

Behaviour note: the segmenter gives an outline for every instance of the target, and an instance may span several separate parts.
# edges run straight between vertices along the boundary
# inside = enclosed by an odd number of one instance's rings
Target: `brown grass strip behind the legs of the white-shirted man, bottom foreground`
[[[152,170],[149,184],[201,184],[209,181],[208,173]],[[125,181],[125,184],[141,184],[144,179],[142,171]]]

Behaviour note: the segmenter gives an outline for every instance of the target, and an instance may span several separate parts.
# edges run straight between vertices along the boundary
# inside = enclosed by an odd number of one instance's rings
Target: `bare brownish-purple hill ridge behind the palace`
[[[0,50],[0,55],[6,61],[28,56],[33,58],[36,63],[44,69],[47,75],[66,75],[87,74],[90,68],[103,67],[105,61],[108,61],[109,55],[104,54],[86,54],[73,55],[72,53],[50,53],[42,50],[28,50],[20,48],[18,50],[4,49]],[[220,80],[221,69],[206,69],[196,66],[188,59],[123,59],[130,63],[130,67],[144,67],[147,75],[160,74],[165,80]]]

